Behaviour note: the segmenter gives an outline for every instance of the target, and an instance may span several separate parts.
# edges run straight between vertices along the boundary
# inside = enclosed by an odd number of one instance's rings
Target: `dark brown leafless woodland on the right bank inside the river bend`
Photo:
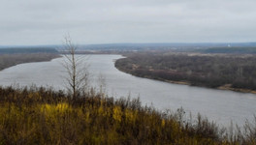
[[[256,90],[254,55],[137,53],[115,62],[123,72],[191,85]]]

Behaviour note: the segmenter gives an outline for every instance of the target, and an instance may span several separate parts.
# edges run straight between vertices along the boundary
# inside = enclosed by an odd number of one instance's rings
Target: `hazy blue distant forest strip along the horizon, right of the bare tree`
[[[198,48],[225,47],[255,47],[256,43],[102,43],[80,45],[80,50],[103,51],[148,51],[148,50],[174,50],[187,51]]]

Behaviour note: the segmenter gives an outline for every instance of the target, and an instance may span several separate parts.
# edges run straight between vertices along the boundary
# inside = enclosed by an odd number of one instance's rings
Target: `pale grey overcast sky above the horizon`
[[[0,45],[256,42],[256,0],[1,0]]]

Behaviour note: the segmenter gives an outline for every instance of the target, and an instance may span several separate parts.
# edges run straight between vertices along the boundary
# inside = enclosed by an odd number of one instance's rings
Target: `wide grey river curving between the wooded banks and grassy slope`
[[[176,110],[181,106],[186,114],[196,116],[200,112],[209,120],[221,126],[243,125],[245,120],[253,120],[256,112],[256,95],[233,91],[215,90],[202,87],[172,84],[151,80],[119,72],[114,60],[120,55],[89,55],[85,61],[89,64],[91,84],[97,86],[99,75],[106,79],[107,92],[114,98],[138,98],[145,105],[153,105],[159,110]],[[27,63],[8,68],[0,72],[0,85],[53,86],[65,88],[63,58],[50,62]]]

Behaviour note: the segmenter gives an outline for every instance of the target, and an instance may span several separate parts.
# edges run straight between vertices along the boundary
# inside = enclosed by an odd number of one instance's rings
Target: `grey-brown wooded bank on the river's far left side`
[[[54,53],[0,54],[0,71],[17,64],[49,61],[57,57],[59,55]]]

